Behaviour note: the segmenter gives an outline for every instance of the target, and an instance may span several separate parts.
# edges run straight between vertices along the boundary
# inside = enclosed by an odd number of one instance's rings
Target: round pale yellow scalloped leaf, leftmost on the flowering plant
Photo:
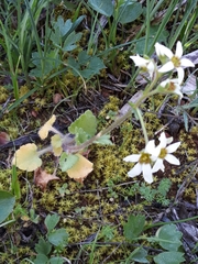
[[[42,165],[37,153],[37,146],[33,143],[22,145],[14,154],[12,164],[20,169],[33,172]]]

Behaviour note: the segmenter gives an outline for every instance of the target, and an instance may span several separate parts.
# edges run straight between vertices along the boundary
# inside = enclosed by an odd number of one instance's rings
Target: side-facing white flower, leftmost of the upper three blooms
[[[155,70],[155,64],[152,59],[146,59],[139,54],[136,56],[130,56],[131,59],[133,59],[135,66],[138,66],[142,72],[146,72],[150,74],[150,77],[153,77],[154,70]]]

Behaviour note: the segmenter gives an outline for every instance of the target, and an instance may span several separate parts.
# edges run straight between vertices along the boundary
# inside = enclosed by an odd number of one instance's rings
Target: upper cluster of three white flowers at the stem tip
[[[183,57],[183,45],[179,41],[176,44],[175,54],[168,47],[160,43],[155,44],[155,52],[162,63],[160,67],[157,67],[155,62],[151,58],[142,58],[139,55],[130,56],[130,58],[133,59],[135,66],[142,72],[147,72],[151,79],[154,77],[154,74],[162,75],[175,69],[178,77],[174,79],[168,78],[162,81],[157,88],[158,92],[177,94],[182,98],[180,85],[184,80],[184,68],[195,67],[194,63]]]

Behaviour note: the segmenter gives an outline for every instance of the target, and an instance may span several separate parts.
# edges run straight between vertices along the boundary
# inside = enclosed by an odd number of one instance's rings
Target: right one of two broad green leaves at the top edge
[[[128,1],[120,6],[118,11],[118,20],[122,24],[136,20],[143,12],[142,4],[139,2]]]

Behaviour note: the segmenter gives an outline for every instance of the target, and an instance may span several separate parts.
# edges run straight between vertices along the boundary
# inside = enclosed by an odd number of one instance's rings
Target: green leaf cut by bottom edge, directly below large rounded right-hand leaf
[[[182,252],[163,252],[155,256],[153,260],[157,264],[180,264],[185,261]]]

